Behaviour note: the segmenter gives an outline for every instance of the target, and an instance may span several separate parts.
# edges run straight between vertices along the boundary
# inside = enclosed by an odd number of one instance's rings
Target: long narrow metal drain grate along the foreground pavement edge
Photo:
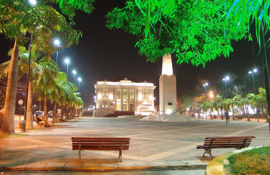
[[[146,171],[179,171],[179,170],[198,170],[206,167],[178,167],[178,168],[144,168],[144,169],[46,169],[46,170],[18,170],[0,171],[0,173],[84,173],[84,172],[146,172]]]

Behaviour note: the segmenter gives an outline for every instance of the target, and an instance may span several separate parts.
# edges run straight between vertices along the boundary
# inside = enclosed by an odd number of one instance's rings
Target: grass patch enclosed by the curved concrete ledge
[[[270,146],[253,148],[230,157],[234,174],[270,174]]]

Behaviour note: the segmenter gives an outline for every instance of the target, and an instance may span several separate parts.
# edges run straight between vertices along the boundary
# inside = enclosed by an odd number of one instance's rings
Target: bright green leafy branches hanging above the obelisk
[[[204,67],[217,56],[229,56],[231,40],[250,38],[246,36],[248,23],[238,25],[233,15],[226,17],[229,10],[230,2],[223,1],[134,0],[109,12],[106,26],[136,35],[135,47],[147,61],[176,53],[178,64]]]

